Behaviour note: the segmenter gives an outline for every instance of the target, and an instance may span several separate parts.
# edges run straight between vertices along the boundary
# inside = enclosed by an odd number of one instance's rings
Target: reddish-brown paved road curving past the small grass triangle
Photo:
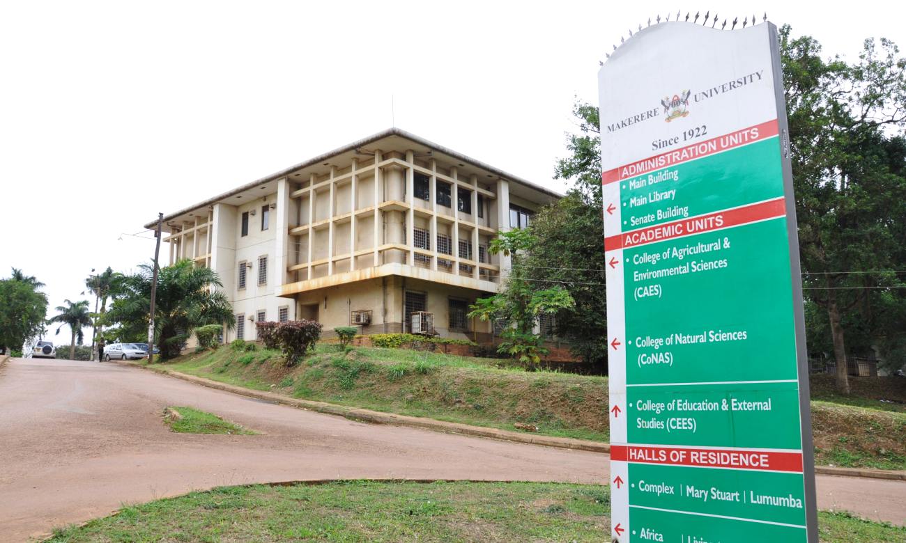
[[[192,405],[252,436],[170,433]],[[355,423],[136,368],[11,360],[0,368],[0,532],[25,540],[121,503],[219,485],[333,478],[607,481],[607,456]],[[818,478],[821,509],[906,523],[906,482]]]

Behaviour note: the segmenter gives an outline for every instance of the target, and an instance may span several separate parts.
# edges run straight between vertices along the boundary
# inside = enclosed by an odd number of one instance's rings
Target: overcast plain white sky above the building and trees
[[[826,55],[854,59],[870,36],[906,48],[899,2],[693,7],[740,21],[766,11]],[[87,299],[92,268],[130,271],[153,255],[152,239],[120,233],[389,128],[391,96],[396,126],[563,190],[552,174],[574,97],[596,100],[598,61],[629,28],[677,9],[0,3],[0,277],[37,276],[52,311]]]

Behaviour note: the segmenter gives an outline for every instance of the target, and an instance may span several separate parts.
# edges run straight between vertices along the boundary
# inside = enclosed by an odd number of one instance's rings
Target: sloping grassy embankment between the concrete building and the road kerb
[[[408,349],[341,352],[319,344],[297,367],[284,367],[278,351],[229,347],[159,366],[297,398],[506,430],[535,424],[545,435],[607,441],[606,377],[500,364]],[[853,379],[853,395],[842,396],[834,393],[833,376],[815,376],[812,392],[817,463],[906,469],[906,379]]]

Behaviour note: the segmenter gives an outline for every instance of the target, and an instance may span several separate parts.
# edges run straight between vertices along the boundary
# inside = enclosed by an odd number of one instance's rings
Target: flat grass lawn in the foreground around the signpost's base
[[[605,541],[606,486],[347,481],[225,487],[126,507],[53,542]],[[824,543],[901,542],[906,529],[841,513],[819,517]]]

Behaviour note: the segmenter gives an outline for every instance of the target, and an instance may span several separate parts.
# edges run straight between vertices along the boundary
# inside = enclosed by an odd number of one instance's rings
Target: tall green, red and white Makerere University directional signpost
[[[817,541],[777,47],[655,24],[600,71],[621,543]]]

